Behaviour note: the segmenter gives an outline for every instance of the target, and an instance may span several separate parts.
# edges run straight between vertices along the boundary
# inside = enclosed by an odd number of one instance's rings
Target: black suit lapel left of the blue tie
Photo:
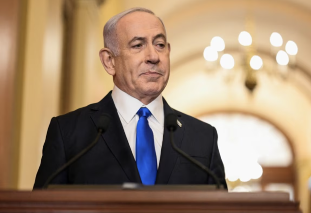
[[[111,97],[111,92],[95,105],[92,110],[97,111],[91,114],[91,118],[96,127],[98,127],[98,118],[101,114],[106,113],[112,117],[109,128],[102,134],[102,137],[118,160],[128,179],[131,182],[141,183],[136,161],[128,144],[117,109]]]

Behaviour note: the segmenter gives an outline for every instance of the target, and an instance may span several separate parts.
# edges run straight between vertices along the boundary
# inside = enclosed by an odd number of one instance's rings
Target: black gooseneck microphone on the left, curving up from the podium
[[[47,188],[47,186],[49,185],[49,183],[59,174],[61,173],[63,170],[65,170],[69,165],[73,164],[76,160],[78,160],[81,156],[83,156],[86,152],[88,152],[92,147],[95,146],[95,144],[98,142],[100,136],[102,133],[104,133],[110,124],[110,120],[111,117],[108,114],[102,114],[100,115],[99,119],[98,119],[98,133],[97,136],[95,138],[95,140],[88,145],[86,148],[84,148],[81,152],[79,152],[77,155],[75,155],[73,158],[71,158],[66,164],[64,164],[62,167],[60,167],[59,169],[57,169],[49,178],[48,180],[44,183],[43,185],[43,189]]]

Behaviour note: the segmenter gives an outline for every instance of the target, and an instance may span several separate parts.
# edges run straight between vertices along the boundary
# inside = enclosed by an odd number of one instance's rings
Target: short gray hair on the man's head
[[[103,32],[104,47],[110,49],[112,51],[112,53],[116,56],[119,54],[118,37],[116,36],[117,23],[122,17],[124,17],[130,13],[134,13],[134,12],[145,12],[145,13],[155,15],[154,12],[152,12],[151,10],[148,10],[146,8],[134,7],[134,8],[128,9],[126,11],[123,11],[122,13],[119,13],[115,16],[112,16],[104,26],[104,32]],[[164,27],[164,31],[166,33],[163,21],[161,20],[161,18],[159,18],[159,17],[157,17],[157,18],[161,21],[161,23]]]

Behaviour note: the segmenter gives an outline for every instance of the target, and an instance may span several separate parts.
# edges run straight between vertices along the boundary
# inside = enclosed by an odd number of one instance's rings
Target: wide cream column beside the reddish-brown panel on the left
[[[18,189],[32,189],[52,116],[58,115],[62,0],[28,0]]]

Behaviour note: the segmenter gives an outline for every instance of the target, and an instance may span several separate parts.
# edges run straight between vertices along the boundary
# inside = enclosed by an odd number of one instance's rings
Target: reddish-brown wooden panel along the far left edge
[[[12,186],[19,0],[0,0],[0,188]]]

